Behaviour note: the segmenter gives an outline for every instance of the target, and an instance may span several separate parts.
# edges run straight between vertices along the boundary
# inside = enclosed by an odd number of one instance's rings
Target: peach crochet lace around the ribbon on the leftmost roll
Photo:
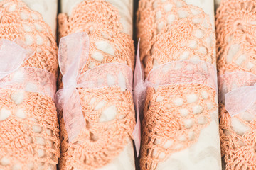
[[[0,11],[0,37],[22,40],[35,52],[22,67],[45,69],[57,77],[57,46],[41,15],[19,0],[1,1]],[[56,168],[60,142],[50,96],[0,89],[0,115],[0,169]]]

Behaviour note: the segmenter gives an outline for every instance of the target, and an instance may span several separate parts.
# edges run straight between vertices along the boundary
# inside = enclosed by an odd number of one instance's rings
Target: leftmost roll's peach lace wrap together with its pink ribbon
[[[0,169],[56,169],[58,60],[52,30],[23,1],[1,1],[0,11]]]

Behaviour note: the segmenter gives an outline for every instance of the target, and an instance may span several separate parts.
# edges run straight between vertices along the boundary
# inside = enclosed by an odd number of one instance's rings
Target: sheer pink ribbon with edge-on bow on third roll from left
[[[139,47],[138,47],[139,48]],[[137,52],[137,62],[134,71],[134,101],[137,111],[137,125],[135,126],[134,137],[137,156],[140,149],[140,122],[139,113],[142,113],[146,89],[148,87],[157,88],[175,84],[202,84],[215,89],[217,92],[217,72],[215,66],[208,62],[193,60],[178,60],[156,67],[149,72],[144,81],[144,73]]]

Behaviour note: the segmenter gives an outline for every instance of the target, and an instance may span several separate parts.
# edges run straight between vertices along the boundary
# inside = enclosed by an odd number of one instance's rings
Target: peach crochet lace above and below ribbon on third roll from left
[[[182,0],[139,1],[137,37],[145,74],[177,60],[215,64],[215,36],[201,8]],[[202,84],[175,84],[147,90],[142,120],[141,169],[156,169],[172,153],[198,140],[216,111],[216,91]]]

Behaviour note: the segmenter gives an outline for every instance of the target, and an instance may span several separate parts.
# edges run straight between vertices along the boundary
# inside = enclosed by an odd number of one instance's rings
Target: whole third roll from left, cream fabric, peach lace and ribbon
[[[213,1],[141,0],[141,169],[221,169]]]

